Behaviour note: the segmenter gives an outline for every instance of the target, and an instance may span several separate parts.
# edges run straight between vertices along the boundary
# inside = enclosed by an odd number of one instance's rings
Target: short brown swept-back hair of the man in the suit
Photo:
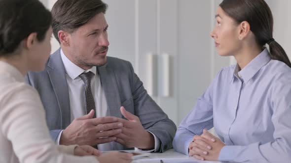
[[[102,0],[58,0],[51,10],[55,38],[60,43],[58,36],[60,30],[72,33],[97,14],[105,14],[106,10],[107,4]]]

